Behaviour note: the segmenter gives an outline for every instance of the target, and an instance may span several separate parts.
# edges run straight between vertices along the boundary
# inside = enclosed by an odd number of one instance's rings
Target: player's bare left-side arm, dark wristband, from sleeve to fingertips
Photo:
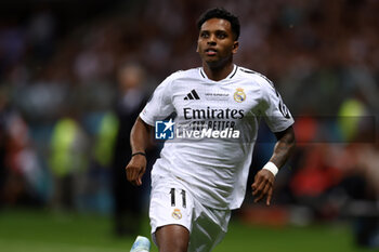
[[[143,152],[149,145],[149,132],[152,127],[146,124],[140,117],[135,120],[135,123],[130,133],[130,145],[132,154]],[[146,157],[143,155],[133,156],[128,165],[126,167],[127,178],[133,185],[142,185],[142,176],[146,171]]]

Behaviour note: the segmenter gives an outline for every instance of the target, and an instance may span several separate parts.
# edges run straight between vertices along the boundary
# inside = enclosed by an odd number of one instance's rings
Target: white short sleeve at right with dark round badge
[[[262,114],[264,120],[272,132],[280,132],[293,124],[295,120],[284,104],[280,94],[275,90],[274,85],[269,81],[262,80],[263,106]]]

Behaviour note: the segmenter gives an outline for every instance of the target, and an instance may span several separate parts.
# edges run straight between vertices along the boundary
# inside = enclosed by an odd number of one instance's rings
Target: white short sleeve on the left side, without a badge
[[[151,100],[141,111],[141,119],[149,125],[155,125],[155,121],[162,120],[174,111],[172,105],[171,85],[172,79],[168,77],[154,91]]]

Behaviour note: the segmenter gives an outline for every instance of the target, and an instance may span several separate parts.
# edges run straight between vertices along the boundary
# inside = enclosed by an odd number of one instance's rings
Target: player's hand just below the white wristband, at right
[[[274,174],[265,169],[259,171],[254,177],[254,183],[251,185],[252,195],[254,196],[254,203],[266,196],[266,205],[270,205],[274,189]]]

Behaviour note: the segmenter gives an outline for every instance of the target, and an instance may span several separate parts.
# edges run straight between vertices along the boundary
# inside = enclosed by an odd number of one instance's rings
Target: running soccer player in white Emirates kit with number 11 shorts
[[[174,72],[155,90],[131,131],[127,178],[142,184],[151,131],[172,114],[172,123],[187,131],[232,129],[240,135],[165,142],[152,170],[149,205],[152,237],[160,252],[211,251],[222,240],[231,210],[239,208],[245,197],[260,118],[277,142],[251,185],[254,202],[265,198],[271,203],[275,175],[295,147],[293,119],[272,82],[233,63],[238,18],[212,9],[201,15],[198,28],[202,66]]]

